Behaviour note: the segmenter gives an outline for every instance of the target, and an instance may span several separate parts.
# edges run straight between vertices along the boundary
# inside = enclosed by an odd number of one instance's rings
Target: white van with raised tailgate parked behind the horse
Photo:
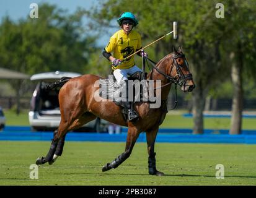
[[[77,77],[74,72],[44,72],[34,74],[30,80],[37,82],[30,100],[29,123],[32,131],[52,131],[60,124],[60,104],[58,93],[60,88],[45,90],[45,85],[60,80],[61,77]],[[76,131],[107,132],[108,122],[96,118]]]

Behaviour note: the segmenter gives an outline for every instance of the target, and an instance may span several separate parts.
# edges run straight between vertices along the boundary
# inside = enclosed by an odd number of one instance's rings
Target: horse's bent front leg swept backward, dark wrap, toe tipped
[[[117,168],[123,161],[125,161],[131,155],[131,151],[133,150],[133,146],[139,136],[139,131],[136,127],[129,127],[126,139],[125,152],[121,153],[115,160],[111,163],[107,163],[103,166],[102,171],[108,171],[112,168]]]

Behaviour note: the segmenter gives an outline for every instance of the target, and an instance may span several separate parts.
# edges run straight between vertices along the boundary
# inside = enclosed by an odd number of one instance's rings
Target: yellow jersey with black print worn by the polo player
[[[123,30],[119,30],[110,37],[108,45],[105,47],[107,53],[113,51],[113,57],[123,60],[136,50],[141,49],[141,36],[135,30],[127,35]],[[115,69],[129,69],[135,65],[135,58],[131,56],[122,62]]]

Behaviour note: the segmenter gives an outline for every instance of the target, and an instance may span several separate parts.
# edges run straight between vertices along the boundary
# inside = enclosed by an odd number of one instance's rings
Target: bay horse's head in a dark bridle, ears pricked
[[[182,48],[175,49],[172,53],[172,66],[170,67],[169,76],[172,77],[172,82],[181,86],[183,92],[192,92],[195,88],[192,74],[189,71],[188,62],[185,58],[185,54],[182,52]]]

